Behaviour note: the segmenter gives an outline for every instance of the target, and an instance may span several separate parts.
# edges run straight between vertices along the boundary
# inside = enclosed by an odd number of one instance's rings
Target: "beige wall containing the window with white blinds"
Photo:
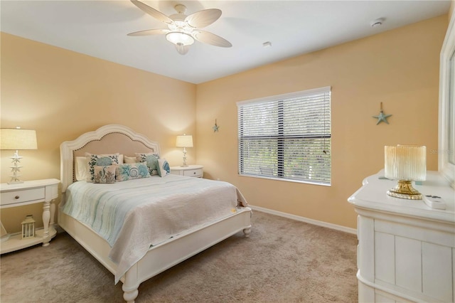
[[[253,206],[355,228],[346,199],[382,169],[385,145],[424,144],[427,169],[437,170],[447,25],[444,15],[198,85],[196,158],[205,176],[235,184]],[[323,86],[332,87],[332,186],[238,176],[236,102]],[[372,117],[380,102],[390,124]]]

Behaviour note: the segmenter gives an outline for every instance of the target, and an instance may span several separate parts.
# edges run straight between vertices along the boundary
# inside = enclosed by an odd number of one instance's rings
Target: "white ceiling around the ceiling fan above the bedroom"
[[[203,83],[267,63],[446,14],[450,1],[144,1],[166,15],[221,9],[204,28],[232,43],[198,41],[180,55],[164,36],[127,36],[166,28],[130,1],[0,1],[1,31],[159,75]],[[380,27],[370,26],[385,18]],[[264,48],[269,41],[272,47]]]

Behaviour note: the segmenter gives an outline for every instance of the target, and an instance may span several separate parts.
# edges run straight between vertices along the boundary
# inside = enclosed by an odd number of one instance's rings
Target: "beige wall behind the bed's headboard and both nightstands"
[[[19,151],[23,180],[60,179],[60,143],[105,124],[124,124],[161,144],[181,164],[177,134],[196,132],[196,85],[1,33],[1,127],[36,129],[38,150]],[[195,144],[197,140],[195,139]],[[13,151],[1,151],[1,182]],[[195,162],[196,147],[188,152]],[[41,205],[5,208],[9,232]]]

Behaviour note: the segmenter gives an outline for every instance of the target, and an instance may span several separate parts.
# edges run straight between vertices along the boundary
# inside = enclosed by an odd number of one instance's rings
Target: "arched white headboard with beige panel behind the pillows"
[[[62,192],[75,181],[75,157],[91,154],[119,153],[134,156],[137,152],[160,153],[158,142],[120,124],[109,124],[93,132],[81,134],[73,141],[60,144],[60,181]]]

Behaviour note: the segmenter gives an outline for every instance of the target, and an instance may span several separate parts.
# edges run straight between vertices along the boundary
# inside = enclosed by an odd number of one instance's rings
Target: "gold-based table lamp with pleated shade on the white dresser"
[[[412,181],[427,179],[427,148],[417,145],[397,145],[384,149],[385,178],[397,180],[397,186],[387,191],[395,198],[421,200],[422,194],[412,187]]]

